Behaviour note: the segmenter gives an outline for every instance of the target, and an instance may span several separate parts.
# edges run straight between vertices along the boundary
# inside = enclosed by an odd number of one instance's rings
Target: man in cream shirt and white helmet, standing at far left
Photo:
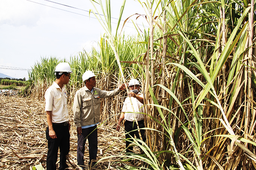
[[[59,63],[55,68],[56,81],[45,92],[45,110],[48,127],[46,139],[48,140],[48,152],[46,169],[56,170],[56,162],[59,155],[59,170],[65,170],[66,155],[69,154],[70,123],[67,110],[67,90],[65,84],[69,83],[72,73],[68,63]]]

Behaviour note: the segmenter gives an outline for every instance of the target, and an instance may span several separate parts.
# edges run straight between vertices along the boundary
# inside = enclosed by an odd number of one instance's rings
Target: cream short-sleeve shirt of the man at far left
[[[56,82],[53,82],[44,94],[45,111],[52,111],[52,122],[62,123],[69,121],[67,110],[67,90],[63,85],[62,89]]]

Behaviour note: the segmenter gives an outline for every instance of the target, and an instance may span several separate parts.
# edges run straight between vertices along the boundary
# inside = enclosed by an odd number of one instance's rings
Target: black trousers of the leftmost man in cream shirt
[[[46,139],[48,140],[48,152],[46,159],[47,170],[56,170],[56,162],[59,149],[59,170],[64,170],[69,167],[66,164],[66,155],[69,154],[69,124],[67,125],[52,125],[57,138],[52,139],[49,136],[49,127],[46,129]]]

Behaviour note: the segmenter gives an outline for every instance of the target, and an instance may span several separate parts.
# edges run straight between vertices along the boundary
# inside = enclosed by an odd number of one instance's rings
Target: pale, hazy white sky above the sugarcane
[[[111,0],[112,27],[117,25],[122,2]],[[97,48],[105,31],[93,13],[89,17],[90,10],[96,12],[90,0],[0,0],[0,73],[27,80],[28,70],[41,57],[69,60],[80,51]],[[126,0],[122,20],[135,13],[145,11],[137,1]],[[136,16],[125,24],[125,34],[137,33],[132,20],[148,25]]]

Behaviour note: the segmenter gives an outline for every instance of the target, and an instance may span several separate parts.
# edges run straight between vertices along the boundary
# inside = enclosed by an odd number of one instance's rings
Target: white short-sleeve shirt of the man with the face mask
[[[142,98],[143,94],[141,94],[140,92],[138,93],[138,95]],[[142,103],[140,103],[140,101],[135,98],[135,97],[131,97],[131,102],[133,103],[133,109],[134,112],[141,112],[141,113],[136,113],[136,118],[137,121],[141,121],[144,119],[144,106]],[[131,107],[131,102],[129,97],[126,97],[125,102],[123,103],[123,108],[122,108],[122,112],[125,112],[125,120],[127,121],[134,121],[134,113],[127,113],[127,112],[133,112],[133,109]]]

